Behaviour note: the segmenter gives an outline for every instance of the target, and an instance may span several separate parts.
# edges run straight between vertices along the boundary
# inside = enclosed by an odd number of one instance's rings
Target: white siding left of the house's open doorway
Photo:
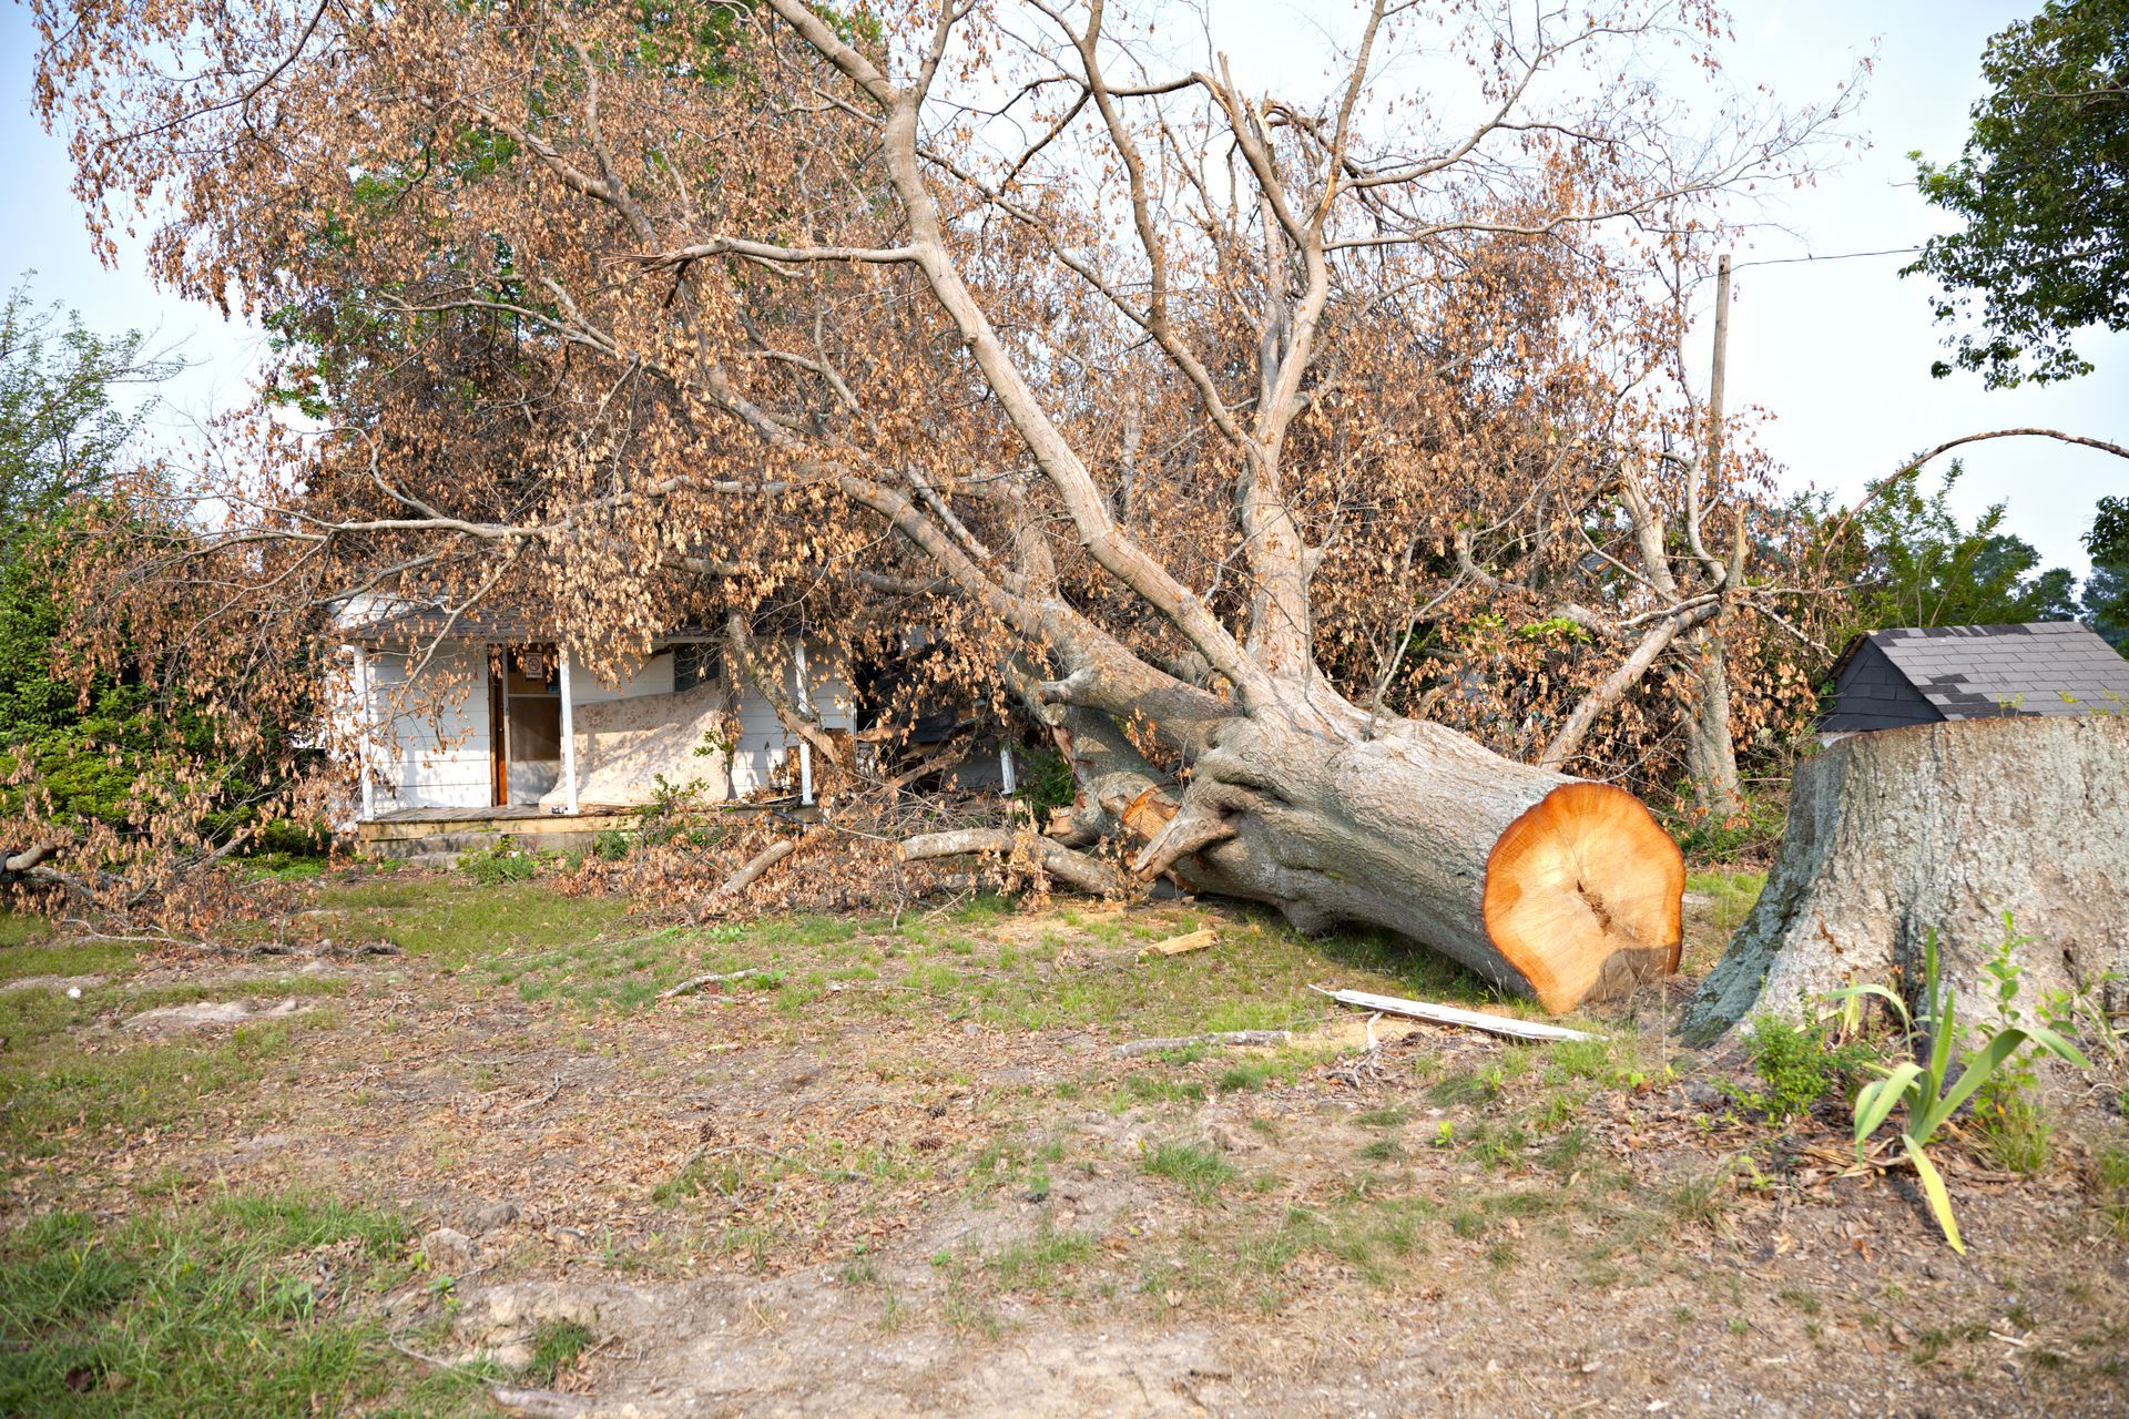
[[[485,808],[494,794],[488,740],[488,655],[481,647],[443,645],[415,685],[402,651],[370,651],[370,704],[394,715],[375,747],[377,811]],[[436,704],[439,691],[456,694]]]

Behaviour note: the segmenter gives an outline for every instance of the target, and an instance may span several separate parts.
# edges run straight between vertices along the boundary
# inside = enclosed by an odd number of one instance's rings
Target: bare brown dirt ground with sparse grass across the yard
[[[1514,1006],[1196,904],[679,930],[543,883],[304,891],[275,955],[0,947],[49,1025],[0,1047],[0,1200],[402,1208],[394,1364],[509,1376],[581,1325],[498,1391],[526,1413],[2129,1413],[2118,1115],[2059,1108],[2035,1176],[1942,1145],[1961,1257],[1912,1176],[1846,1166],[1839,1100],[1767,1123],[1742,1057],[1669,1042],[1684,981],[1548,1047],[1341,1013],[1307,987]],[[1690,966],[1731,896],[1690,898]],[[1292,1034],[1120,1053],[1207,1030]],[[128,1059],[183,1087],[96,1083]]]

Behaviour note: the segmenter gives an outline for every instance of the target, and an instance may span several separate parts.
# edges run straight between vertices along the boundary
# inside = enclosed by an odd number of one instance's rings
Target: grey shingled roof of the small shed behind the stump
[[[2129,660],[2078,621],[1874,630],[1848,645],[1835,677],[1865,642],[1946,719],[2129,711]]]

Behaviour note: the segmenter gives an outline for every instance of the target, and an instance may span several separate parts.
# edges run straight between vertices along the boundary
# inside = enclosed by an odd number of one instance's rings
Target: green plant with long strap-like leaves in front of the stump
[[[2010,919],[2006,917],[2008,923]],[[2014,945],[2006,945],[2006,955]],[[1935,928],[1922,934],[1922,1019],[1916,1021],[1908,1013],[1908,1004],[1884,985],[1850,985],[1835,991],[1833,1000],[1861,1004],[1869,996],[1884,1000],[1899,1017],[1914,1057],[1876,1066],[1882,1079],[1863,1085],[1856,1094],[1856,1157],[1863,1157],[1865,1140],[1893,1117],[1895,1108],[1905,1104],[1908,1123],[1899,1134],[1899,1142],[1908,1151],[1910,1162],[1914,1162],[1914,1174],[1922,1181],[1922,1196],[1929,1200],[1929,1211],[1937,1219],[1937,1228],[1944,1230],[1944,1240],[1952,1245],[1952,1251],[1965,1253],[1967,1247],[1959,1238],[1959,1219],[1952,1217],[1952,1196],[1946,1191],[1937,1166],[1929,1162],[1929,1140],[2027,1042],[2078,1068],[2091,1068],[2091,1062],[2078,1053],[2076,1045],[2040,1021],[2023,1025],[2006,1023],[1995,1028],[1988,1042],[1978,1051],[1961,1051],[1957,1059],[1959,1076],[1952,1081],[1952,1049],[1959,1040],[1959,1019],[1952,1002],[1954,991],[1944,981],[1942,962],[1937,959]],[[2012,979],[2012,996],[2016,996],[2016,979]],[[1929,1034],[1927,1057],[1918,1049],[1922,1028]]]

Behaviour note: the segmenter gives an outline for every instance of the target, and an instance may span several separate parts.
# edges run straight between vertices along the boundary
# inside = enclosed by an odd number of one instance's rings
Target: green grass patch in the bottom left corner
[[[407,1223],[334,1200],[224,1193],[0,1234],[0,1413],[477,1415],[458,1376],[383,1345],[366,1298],[409,1274]]]

